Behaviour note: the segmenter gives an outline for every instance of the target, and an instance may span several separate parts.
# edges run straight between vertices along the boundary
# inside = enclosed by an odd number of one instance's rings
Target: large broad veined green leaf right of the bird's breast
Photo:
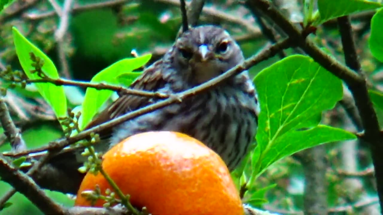
[[[310,57],[293,55],[280,60],[255,77],[255,86],[261,109],[256,136],[256,151],[260,155],[253,156],[252,160],[255,177],[291,153],[320,143],[355,137],[343,130],[316,127],[321,112],[333,108],[342,99],[343,91],[340,79]],[[310,134],[314,135],[318,131],[328,134],[318,134],[310,141],[298,137],[298,134],[312,132]],[[294,138],[303,142],[298,144]]]

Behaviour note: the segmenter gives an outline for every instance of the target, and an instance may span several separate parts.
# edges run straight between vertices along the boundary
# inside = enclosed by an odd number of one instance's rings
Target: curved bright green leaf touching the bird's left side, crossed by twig
[[[101,72],[97,73],[91,83],[105,82],[108,84],[118,84],[121,81],[118,77],[124,73],[133,73],[134,69],[140,68],[145,65],[150,58],[151,54],[142,55],[136,58],[127,58],[119,60],[118,62],[110,65]],[[98,112],[105,101],[111,96],[111,90],[96,90],[94,88],[87,88],[85,92],[84,101],[82,103],[82,115],[80,117],[80,129],[92,120],[93,116]]]

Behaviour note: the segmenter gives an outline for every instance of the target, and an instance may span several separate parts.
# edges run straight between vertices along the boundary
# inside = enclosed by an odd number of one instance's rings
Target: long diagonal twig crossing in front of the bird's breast
[[[97,125],[95,127],[92,127],[91,129],[85,130],[80,132],[77,135],[74,135],[73,137],[70,137],[68,139],[60,139],[54,142],[49,143],[48,146],[36,148],[34,150],[26,150],[22,151],[20,153],[3,153],[3,155],[6,156],[23,156],[28,155],[30,153],[36,153],[46,150],[61,150],[62,148],[75,143],[79,140],[82,140],[84,138],[87,138],[92,132],[98,133],[102,130],[114,127],[122,122],[128,121],[129,119],[132,119],[137,116],[141,116],[142,114],[146,114],[148,112],[155,111],[157,109],[163,108],[165,106],[169,106],[170,104],[177,103],[182,101],[182,99],[188,98],[190,96],[194,96],[195,94],[201,93],[203,91],[206,91],[219,83],[221,83],[224,80],[227,80],[228,78],[241,73],[244,70],[249,69],[250,67],[258,64],[259,62],[266,60],[270,57],[273,57],[275,54],[277,54],[280,50],[286,49],[290,47],[291,41],[289,39],[285,39],[281,42],[278,42],[276,44],[273,44],[270,47],[267,47],[266,49],[259,52],[259,54],[254,55],[250,57],[249,59],[246,59],[242,64],[237,65],[236,67],[228,70],[227,72],[219,75],[218,77],[215,77],[211,79],[210,81],[207,81],[201,85],[195,86],[189,90],[182,91],[180,93],[176,93],[172,96],[170,96],[167,99],[164,99],[162,101],[158,101],[154,104],[148,105],[144,108],[138,109],[136,111],[128,112],[127,114],[124,114],[122,116],[119,116],[115,119],[112,119],[111,121],[105,122],[103,124]]]

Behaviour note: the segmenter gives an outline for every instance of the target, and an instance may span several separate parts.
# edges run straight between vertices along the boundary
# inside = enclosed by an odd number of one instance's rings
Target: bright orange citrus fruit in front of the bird
[[[137,208],[155,215],[243,215],[238,191],[213,150],[177,132],[145,132],[126,138],[103,156],[103,169]],[[82,181],[76,206],[90,206],[80,194],[100,186],[98,173]],[[94,205],[102,207],[102,200]]]

